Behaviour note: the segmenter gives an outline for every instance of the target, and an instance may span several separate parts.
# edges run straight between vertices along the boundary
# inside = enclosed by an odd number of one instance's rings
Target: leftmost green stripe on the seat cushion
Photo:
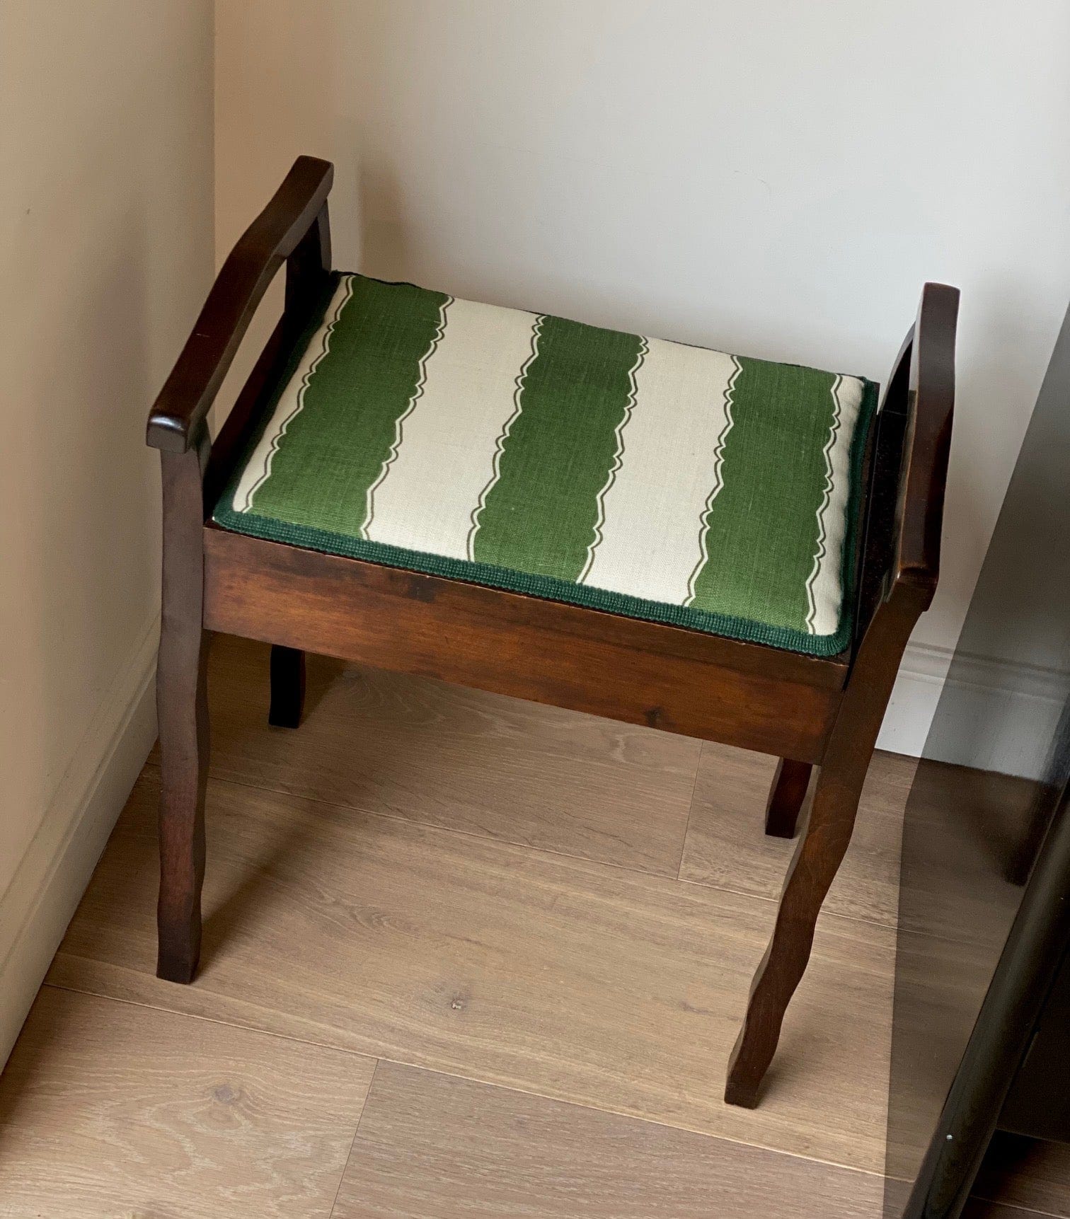
[[[252,497],[255,512],[340,533],[363,530],[368,489],[391,457],[397,421],[417,393],[420,361],[435,345],[448,299],[353,277],[330,356],[279,441],[271,478]],[[357,434],[361,444],[353,445]]]

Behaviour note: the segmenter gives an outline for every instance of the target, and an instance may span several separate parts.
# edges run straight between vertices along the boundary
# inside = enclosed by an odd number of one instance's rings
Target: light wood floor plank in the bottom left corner
[[[0,1215],[328,1219],[373,1069],[45,986],[0,1076]]]

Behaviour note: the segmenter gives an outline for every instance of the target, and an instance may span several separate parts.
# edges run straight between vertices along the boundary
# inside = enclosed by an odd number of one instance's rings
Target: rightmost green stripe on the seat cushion
[[[696,610],[807,630],[835,380],[740,357],[723,486],[706,513],[707,558],[690,601]]]

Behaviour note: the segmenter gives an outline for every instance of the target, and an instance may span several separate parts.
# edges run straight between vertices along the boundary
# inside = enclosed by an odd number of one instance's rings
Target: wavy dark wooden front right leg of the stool
[[[807,833],[791,861],[773,939],[754,975],[747,1015],[729,1059],[728,1104],[753,1109],[758,1103],[784,1013],[810,959],[821,902],[851,842],[865,767],[848,772],[827,766],[818,772]]]

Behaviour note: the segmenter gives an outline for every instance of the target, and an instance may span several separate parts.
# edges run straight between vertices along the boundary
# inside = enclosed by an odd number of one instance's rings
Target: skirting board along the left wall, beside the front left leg
[[[158,619],[119,672],[0,900],[0,1064],[156,740]]]

